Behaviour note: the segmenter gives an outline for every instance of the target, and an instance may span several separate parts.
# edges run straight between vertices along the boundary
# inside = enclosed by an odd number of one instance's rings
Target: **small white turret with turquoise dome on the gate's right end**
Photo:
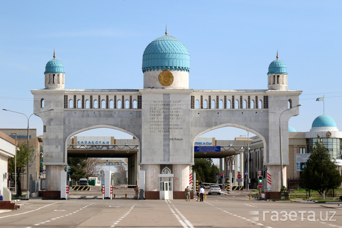
[[[271,62],[267,75],[269,90],[287,90],[286,65],[278,59],[278,51],[277,59]]]

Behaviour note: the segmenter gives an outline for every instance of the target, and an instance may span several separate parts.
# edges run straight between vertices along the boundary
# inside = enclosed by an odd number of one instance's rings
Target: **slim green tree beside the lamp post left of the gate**
[[[33,153],[34,148],[28,148],[27,143],[25,142],[17,146],[17,198],[19,198],[22,195],[20,174],[24,174],[26,172],[27,163],[32,163]],[[9,170],[11,176],[15,174],[15,167],[15,159],[9,160]]]

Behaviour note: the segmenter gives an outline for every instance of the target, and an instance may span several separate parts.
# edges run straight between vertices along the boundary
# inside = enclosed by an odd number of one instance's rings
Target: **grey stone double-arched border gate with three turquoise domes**
[[[267,90],[194,90],[189,88],[187,47],[165,32],[145,48],[142,72],[142,89],[64,89],[68,77],[62,63],[55,55],[47,62],[45,89],[31,91],[34,113],[44,125],[44,198],[56,198],[63,191],[61,173],[67,165],[68,139],[100,127],[121,130],[138,140],[136,153],[112,156],[129,155],[128,172],[133,174],[128,182],[140,185],[145,199],[183,199],[194,164],[195,139],[226,126],[260,136],[264,165],[274,177],[265,191],[269,195],[280,191],[281,173],[286,174],[289,163],[288,120],[299,114],[301,91],[287,89],[287,68],[278,55],[265,76]],[[54,111],[42,112],[50,109]],[[283,111],[281,172],[276,114]],[[283,179],[286,183],[286,175]]]

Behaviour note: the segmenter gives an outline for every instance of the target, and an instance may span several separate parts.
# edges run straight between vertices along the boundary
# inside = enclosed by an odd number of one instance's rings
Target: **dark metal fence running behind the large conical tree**
[[[301,179],[288,179],[287,189],[289,191],[290,198],[320,198],[321,195],[316,190],[304,189],[302,187]],[[342,188],[332,189],[325,193],[325,197],[339,198],[342,195]]]

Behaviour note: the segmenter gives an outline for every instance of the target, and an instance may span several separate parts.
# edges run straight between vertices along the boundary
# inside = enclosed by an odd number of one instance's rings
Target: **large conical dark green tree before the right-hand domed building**
[[[306,161],[302,179],[305,188],[317,190],[323,199],[325,197],[323,193],[341,185],[342,177],[337,166],[331,162],[329,151],[324,147],[319,136],[309,159]]]

